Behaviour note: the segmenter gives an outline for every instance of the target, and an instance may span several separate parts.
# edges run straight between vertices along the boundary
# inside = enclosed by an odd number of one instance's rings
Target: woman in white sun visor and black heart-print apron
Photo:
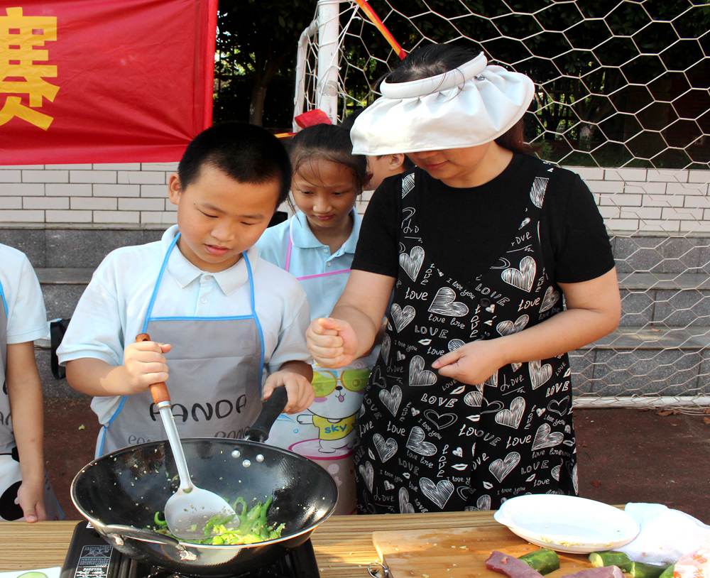
[[[348,364],[394,290],[358,421],[359,511],[577,494],[567,351],[620,314],[594,199],[574,173],[526,154],[525,75],[429,45],[381,92],[355,121],[354,151],[404,151],[416,168],[377,190],[344,294],[307,331],[318,363]]]

